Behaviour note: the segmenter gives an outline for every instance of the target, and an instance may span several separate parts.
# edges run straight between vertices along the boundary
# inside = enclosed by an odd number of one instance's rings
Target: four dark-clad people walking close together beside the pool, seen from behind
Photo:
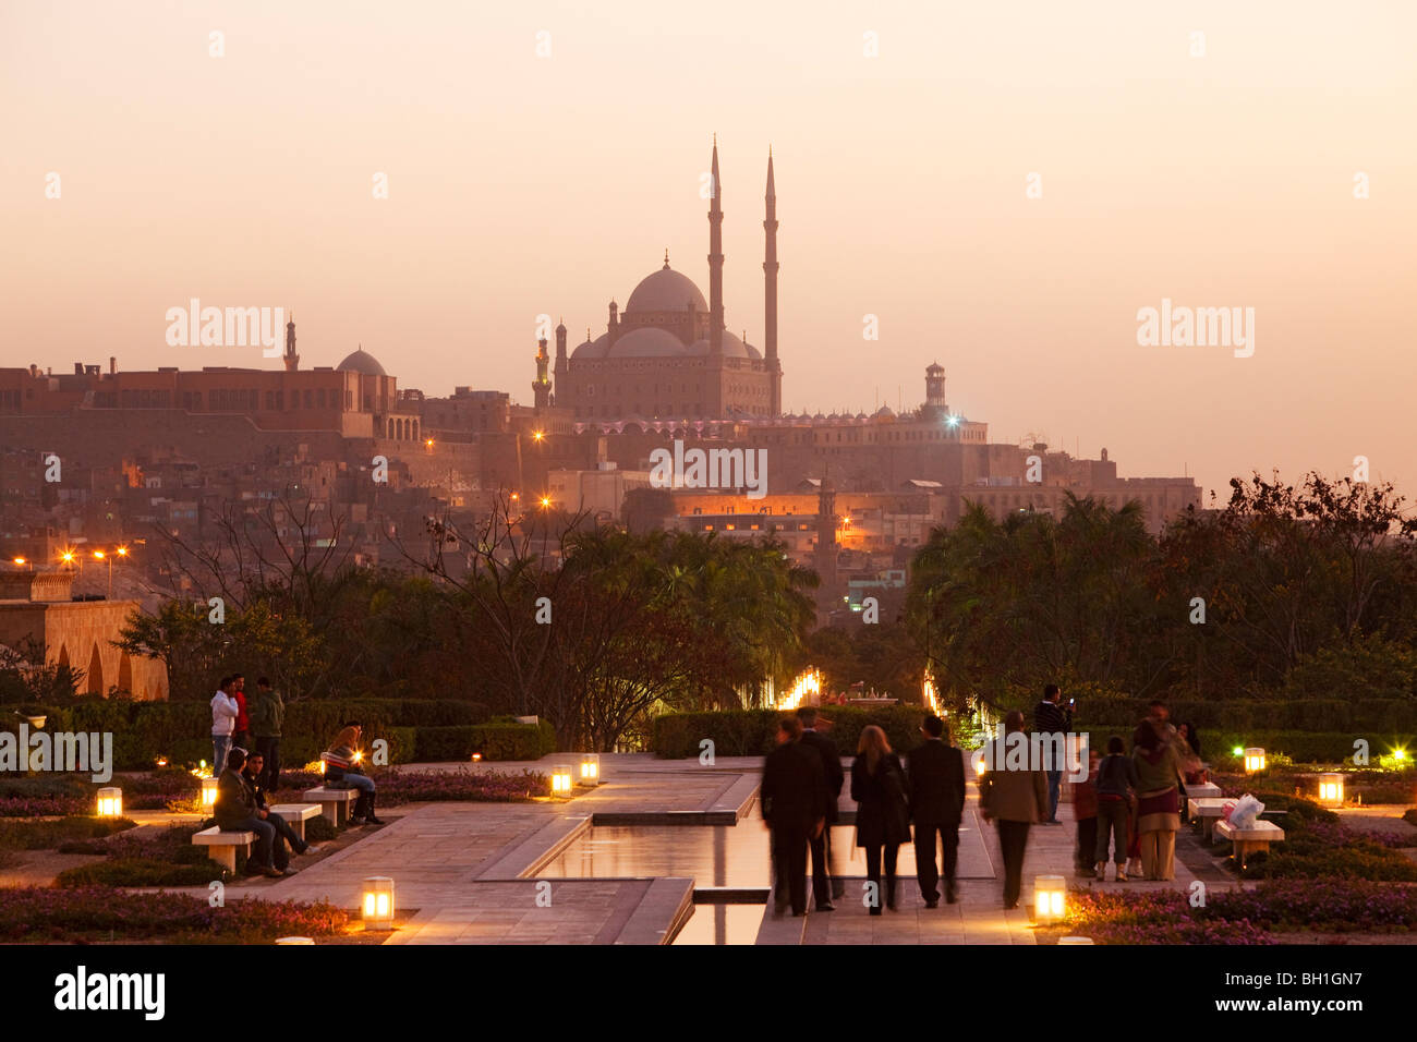
[[[772,831],[775,910],[779,914],[789,904],[794,916],[806,913],[809,853],[816,910],[833,912],[832,900],[845,893],[845,883],[830,872],[830,827],[839,818],[837,801],[846,771],[836,744],[818,732],[818,723],[812,706],[782,717],[778,747],[768,754],[762,768],[760,798],[762,818]],[[945,900],[952,904],[959,899],[955,865],[965,805],[964,754],[947,744],[939,717],[927,716],[921,733],[924,743],[901,764],[886,732],[869,724],[862,730],[852,761],[856,845],[866,851],[866,904],[873,916],[881,914],[883,904],[890,910],[897,907],[896,866],[900,845],[911,839],[911,825],[915,827],[915,875],[927,907],[939,904],[937,852],[941,848]]]

